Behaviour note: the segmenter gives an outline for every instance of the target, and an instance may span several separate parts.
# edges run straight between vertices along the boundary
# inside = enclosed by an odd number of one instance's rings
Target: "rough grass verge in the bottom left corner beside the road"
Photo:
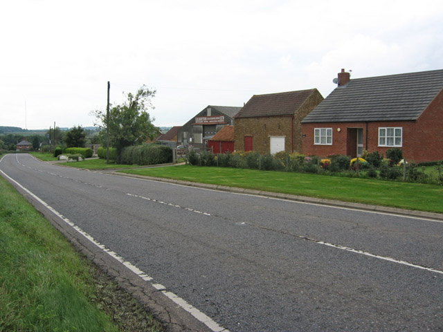
[[[1,177],[0,192],[0,331],[125,331],[98,291],[109,280]]]

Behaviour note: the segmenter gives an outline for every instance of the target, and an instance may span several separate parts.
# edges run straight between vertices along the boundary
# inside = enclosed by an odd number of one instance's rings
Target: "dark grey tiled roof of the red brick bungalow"
[[[416,120],[443,89],[443,70],[350,80],[302,123]]]

